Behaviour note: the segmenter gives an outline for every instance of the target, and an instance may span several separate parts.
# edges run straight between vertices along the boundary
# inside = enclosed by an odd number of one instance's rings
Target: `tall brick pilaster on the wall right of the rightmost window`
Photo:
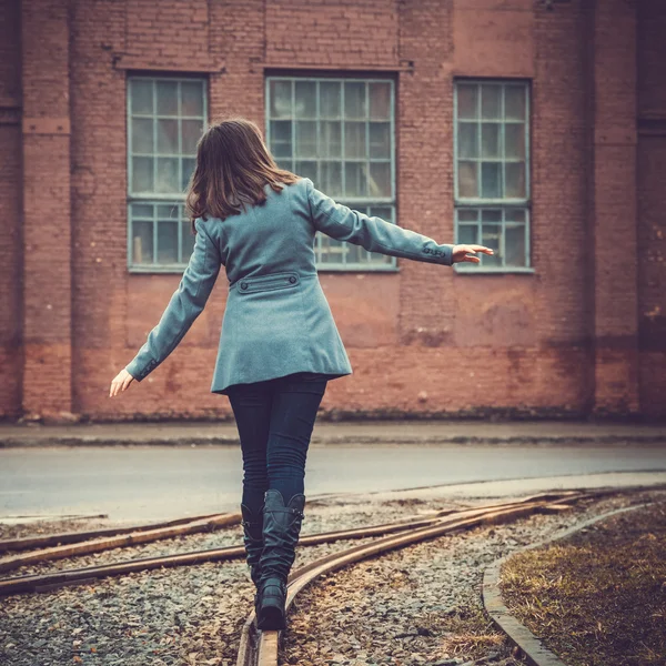
[[[594,18],[596,406],[638,410],[636,292],[636,7]]]

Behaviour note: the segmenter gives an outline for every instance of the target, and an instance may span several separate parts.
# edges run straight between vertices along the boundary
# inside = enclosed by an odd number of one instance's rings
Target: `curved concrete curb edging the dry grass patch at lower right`
[[[559,657],[557,657],[554,653],[552,653],[541,642],[541,639],[537,638],[525,625],[519,623],[513,615],[509,614],[508,608],[504,605],[504,602],[502,601],[502,594],[500,592],[500,569],[502,568],[502,565],[517,553],[523,553],[532,548],[538,548],[541,546],[551,544],[555,541],[566,538],[567,536],[571,536],[572,534],[579,532],[581,529],[584,529],[585,527],[615,514],[623,513],[625,511],[634,511],[636,508],[644,508],[645,506],[650,506],[652,504],[654,504],[654,502],[638,504],[636,506],[625,506],[622,508],[609,511],[599,516],[595,516],[588,521],[585,521],[581,525],[576,525],[575,527],[566,529],[564,533],[553,538],[543,539],[541,542],[529,544],[524,548],[519,548],[518,551],[514,551],[513,553],[501,557],[485,569],[482,585],[482,598],[484,608],[486,609],[486,613],[491,616],[495,625],[508,636],[511,642],[526,657],[529,666],[567,665],[562,659],[559,659]]]

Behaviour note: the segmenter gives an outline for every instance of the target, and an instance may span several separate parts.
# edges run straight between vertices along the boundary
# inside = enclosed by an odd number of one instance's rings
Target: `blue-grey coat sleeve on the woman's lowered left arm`
[[[219,246],[204,231],[203,221],[194,221],[194,250],[179,287],[173,292],[158,325],[149,333],[125,370],[138,381],[145,379],[178,346],[203,306],[215,284],[222,258]]]

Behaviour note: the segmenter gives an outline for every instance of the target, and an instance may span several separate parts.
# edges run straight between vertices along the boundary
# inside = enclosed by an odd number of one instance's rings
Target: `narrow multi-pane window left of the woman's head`
[[[205,80],[128,78],[128,261],[182,272],[194,249],[184,192],[206,119]]]

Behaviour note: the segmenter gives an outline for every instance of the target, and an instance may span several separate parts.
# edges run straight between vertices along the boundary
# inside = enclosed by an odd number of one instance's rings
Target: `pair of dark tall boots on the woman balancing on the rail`
[[[256,599],[256,626],[260,629],[284,629],[286,613],[286,579],[295,559],[305,495],[294,495],[284,505],[282,493],[266,491],[264,502],[261,577]]]

